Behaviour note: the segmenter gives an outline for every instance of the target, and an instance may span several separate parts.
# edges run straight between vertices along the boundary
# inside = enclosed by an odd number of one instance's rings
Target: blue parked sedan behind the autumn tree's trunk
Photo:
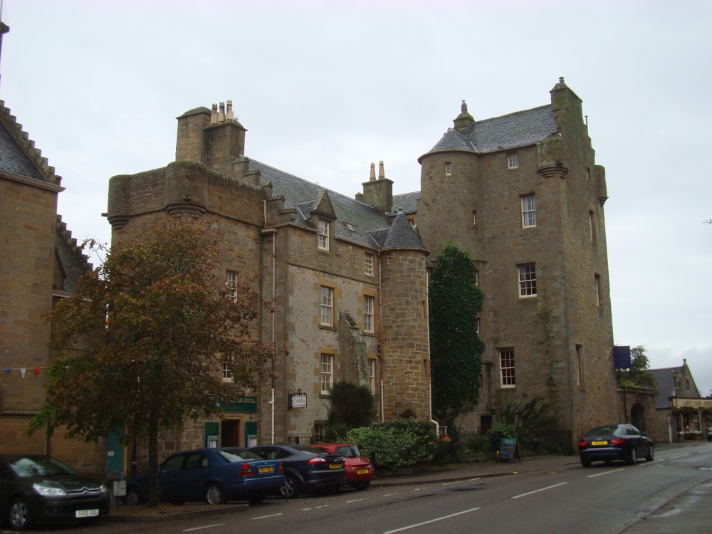
[[[224,504],[246,500],[261,503],[284,486],[280,460],[263,460],[241,447],[196,449],[169,456],[158,468],[161,501],[182,504],[205,501]],[[148,498],[148,473],[126,481],[126,503]]]

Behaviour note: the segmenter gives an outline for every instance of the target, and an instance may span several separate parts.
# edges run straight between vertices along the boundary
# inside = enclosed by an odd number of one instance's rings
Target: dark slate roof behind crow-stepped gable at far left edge
[[[41,182],[59,185],[62,178],[54,174],[41,150],[11,115],[9,108],[0,100],[0,171],[19,174]]]

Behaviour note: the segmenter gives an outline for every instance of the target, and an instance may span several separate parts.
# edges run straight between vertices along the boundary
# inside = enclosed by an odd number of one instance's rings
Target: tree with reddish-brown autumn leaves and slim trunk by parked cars
[[[96,441],[122,424],[125,443],[148,444],[149,506],[158,503],[159,431],[215,414],[235,385],[271,376],[273,348],[251,335],[264,303],[252,281],[226,287],[219,238],[214,222],[184,217],[120,241],[52,313],[59,357],[31,431],[66,426]],[[222,381],[223,363],[234,384]]]

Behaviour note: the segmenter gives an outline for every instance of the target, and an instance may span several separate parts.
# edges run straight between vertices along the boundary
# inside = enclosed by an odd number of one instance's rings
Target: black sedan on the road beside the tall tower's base
[[[647,433],[639,431],[632,424],[604,424],[590,429],[579,442],[579,456],[584,467],[592,461],[610,464],[614,460],[624,460],[635,464],[639,456],[653,461],[653,442]]]

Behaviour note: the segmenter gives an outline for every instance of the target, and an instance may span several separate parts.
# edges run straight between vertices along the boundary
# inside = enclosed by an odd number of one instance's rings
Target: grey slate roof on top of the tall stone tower
[[[551,106],[543,105],[502,117],[476,121],[462,132],[449,128],[426,154],[446,150],[464,150],[479,154],[496,152],[533,145],[556,131],[556,120]]]

